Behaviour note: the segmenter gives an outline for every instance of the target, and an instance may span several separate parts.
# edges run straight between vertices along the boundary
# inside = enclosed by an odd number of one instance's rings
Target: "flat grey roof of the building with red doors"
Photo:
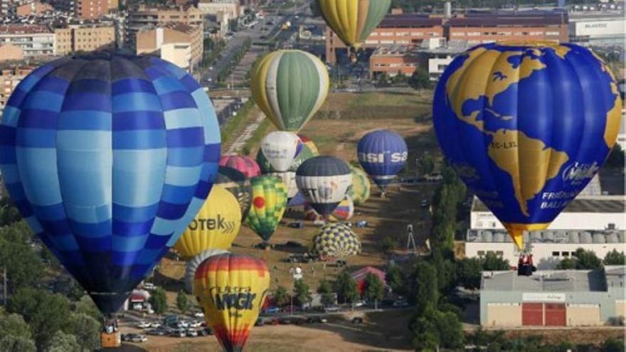
[[[622,267],[623,269],[623,267]],[[602,270],[539,270],[532,276],[516,271],[483,272],[481,290],[517,292],[603,292]]]

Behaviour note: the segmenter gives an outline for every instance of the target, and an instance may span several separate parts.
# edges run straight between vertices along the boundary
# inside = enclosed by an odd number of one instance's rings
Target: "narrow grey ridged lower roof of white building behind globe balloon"
[[[467,230],[466,242],[509,243],[511,237],[506,230]],[[625,230],[543,230],[524,233],[524,243],[572,243],[603,244],[626,243]]]

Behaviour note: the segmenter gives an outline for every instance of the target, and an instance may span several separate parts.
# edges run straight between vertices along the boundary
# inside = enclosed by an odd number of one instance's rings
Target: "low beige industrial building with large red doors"
[[[532,276],[483,272],[480,324],[519,326],[602,326],[626,315],[626,267],[604,270],[546,270]]]

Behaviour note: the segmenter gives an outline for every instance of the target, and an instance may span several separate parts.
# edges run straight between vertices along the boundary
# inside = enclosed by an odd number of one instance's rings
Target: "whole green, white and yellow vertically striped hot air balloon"
[[[326,66],[314,55],[277,50],[255,65],[250,90],[277,129],[297,132],[324,104],[329,82]]]

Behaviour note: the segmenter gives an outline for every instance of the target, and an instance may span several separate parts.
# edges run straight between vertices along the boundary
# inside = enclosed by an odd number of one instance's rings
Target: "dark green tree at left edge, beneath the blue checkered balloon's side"
[[[9,293],[33,287],[43,277],[43,263],[31,248],[32,232],[24,221],[0,228],[0,268],[6,269]]]

